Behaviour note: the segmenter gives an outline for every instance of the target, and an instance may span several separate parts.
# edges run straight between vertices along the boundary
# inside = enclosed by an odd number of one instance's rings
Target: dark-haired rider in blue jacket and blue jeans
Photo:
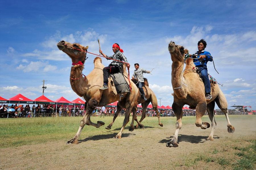
[[[210,86],[210,80],[208,77],[208,71],[207,71],[207,62],[208,61],[212,61],[212,56],[208,51],[205,51],[207,43],[205,42],[204,39],[201,39],[198,43],[197,43],[197,47],[198,47],[198,51],[193,54],[193,58],[194,59],[194,63],[195,66],[199,69],[199,71],[201,72],[201,77],[203,79],[204,85],[205,85],[205,98],[206,100],[210,100],[212,98],[212,96],[210,95],[211,92],[211,86]],[[199,55],[195,56],[195,55]],[[190,54],[191,56],[191,54]],[[198,58],[197,58],[198,57]]]

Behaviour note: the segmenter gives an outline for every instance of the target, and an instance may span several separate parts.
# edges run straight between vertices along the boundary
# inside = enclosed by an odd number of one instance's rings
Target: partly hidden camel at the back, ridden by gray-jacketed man
[[[137,79],[131,79],[135,84],[138,82]],[[138,122],[137,120],[137,115],[135,117],[135,121],[138,123],[135,127],[138,128],[138,126],[140,128],[144,128],[144,125],[141,124],[141,122],[143,121],[143,119],[146,117],[146,109],[149,105],[149,103],[151,102],[152,103],[152,107],[153,109],[156,111],[156,115],[158,117],[158,125],[160,125],[161,127],[163,127],[163,124],[161,123],[160,121],[160,113],[158,112],[158,109],[157,109],[157,98],[156,98],[156,95],[154,94],[154,92],[148,87],[148,80],[146,78],[144,78],[144,86],[142,87],[144,92],[145,92],[145,96],[147,98],[147,100],[145,101],[142,97],[141,97],[141,94],[139,93],[138,94],[138,98],[137,98],[137,103],[140,104],[141,103],[141,106],[142,106],[142,116],[141,116],[141,119],[140,121]],[[139,90],[139,88],[138,88]],[[119,112],[121,111],[121,107],[118,105],[117,103],[117,109],[116,109],[116,112],[114,114],[114,117],[113,117],[113,121],[107,126],[105,127],[106,129],[111,129],[115,119],[117,118]]]

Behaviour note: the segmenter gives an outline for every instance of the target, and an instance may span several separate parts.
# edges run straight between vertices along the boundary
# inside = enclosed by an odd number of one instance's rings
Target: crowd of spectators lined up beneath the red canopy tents
[[[7,112],[8,109],[13,109],[14,111]],[[175,117],[175,114],[172,109],[170,110],[158,110],[161,117]],[[92,116],[113,116],[116,112],[115,107],[96,107],[92,112]],[[0,108],[0,117],[1,118],[18,118],[18,117],[75,117],[75,116],[83,116],[85,113],[84,108],[79,106],[66,106],[66,105],[40,105],[37,106],[33,105],[2,105]],[[215,115],[224,115],[224,113],[220,109],[214,110]],[[246,112],[240,112],[235,109],[228,109],[228,114],[230,115],[247,115]],[[122,109],[119,116],[125,115],[125,109]],[[132,113],[131,113],[132,115]],[[142,109],[137,110],[137,116],[142,115]],[[208,115],[206,112],[205,115]],[[154,110],[146,110],[146,117],[155,117],[156,111]],[[186,109],[183,110],[183,116],[195,116],[195,110],[193,109]]]

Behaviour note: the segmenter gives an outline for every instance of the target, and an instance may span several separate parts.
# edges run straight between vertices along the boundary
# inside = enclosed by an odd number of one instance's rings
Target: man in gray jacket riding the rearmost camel
[[[140,65],[138,63],[135,63],[134,67],[136,70],[134,70],[132,78],[135,78],[135,77],[138,78],[139,82],[136,85],[139,87],[141,95],[143,99],[146,101],[147,98],[145,97],[145,93],[142,88],[144,86],[143,73],[150,73],[150,71],[146,71],[145,69],[140,68]]]

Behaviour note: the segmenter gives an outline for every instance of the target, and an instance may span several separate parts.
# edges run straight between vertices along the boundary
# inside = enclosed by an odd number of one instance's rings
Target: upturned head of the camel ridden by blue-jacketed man
[[[185,52],[184,47],[181,45],[176,45],[175,42],[170,42],[168,45],[168,50],[171,54],[172,61],[179,60],[184,61]]]

